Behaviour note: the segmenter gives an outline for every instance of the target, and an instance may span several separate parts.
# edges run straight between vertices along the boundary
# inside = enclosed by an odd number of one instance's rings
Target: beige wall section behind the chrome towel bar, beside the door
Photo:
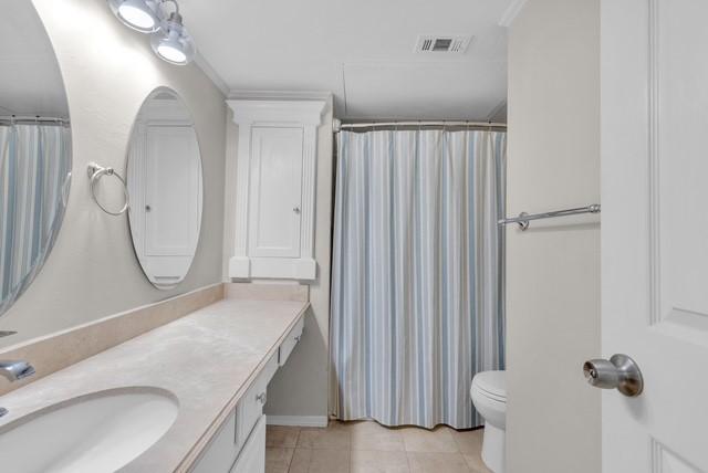
[[[600,201],[598,0],[530,0],[510,29],[507,188],[509,214]],[[597,220],[507,232],[510,473],[601,471]]]

